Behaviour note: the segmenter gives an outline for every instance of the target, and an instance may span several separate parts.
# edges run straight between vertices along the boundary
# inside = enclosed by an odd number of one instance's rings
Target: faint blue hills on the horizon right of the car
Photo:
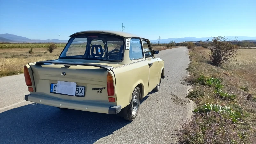
[[[237,40],[256,40],[256,37],[248,37],[248,36],[236,36]],[[235,37],[233,36],[226,36],[225,38],[229,39],[234,39]],[[175,41],[176,43],[178,42],[184,42],[184,41],[206,41],[207,39],[212,40],[212,37],[201,37],[201,38],[196,38],[196,37],[184,37],[184,38],[167,38],[167,39],[160,39],[160,43],[169,43],[169,41]],[[158,40],[150,40],[151,43],[156,43]]]

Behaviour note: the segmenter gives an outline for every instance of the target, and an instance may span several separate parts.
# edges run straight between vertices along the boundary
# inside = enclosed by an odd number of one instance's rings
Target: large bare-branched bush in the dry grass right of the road
[[[214,66],[222,66],[229,61],[236,61],[236,54],[238,52],[238,45],[236,40],[227,41],[223,37],[213,37],[210,44],[210,60]]]

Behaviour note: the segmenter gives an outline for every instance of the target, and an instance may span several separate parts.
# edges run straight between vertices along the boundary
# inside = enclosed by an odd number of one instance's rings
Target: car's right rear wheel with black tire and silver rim
[[[127,116],[124,117],[124,119],[128,121],[133,121],[136,118],[140,108],[140,97],[140,88],[136,87],[132,92],[132,100],[128,105],[128,113]]]

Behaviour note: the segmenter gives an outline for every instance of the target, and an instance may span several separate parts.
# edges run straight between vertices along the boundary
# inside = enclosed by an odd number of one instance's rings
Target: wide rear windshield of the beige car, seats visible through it
[[[124,40],[108,35],[86,35],[71,38],[60,58],[120,61]]]

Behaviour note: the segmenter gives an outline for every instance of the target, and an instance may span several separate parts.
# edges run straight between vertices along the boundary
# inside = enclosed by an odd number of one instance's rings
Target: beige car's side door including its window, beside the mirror
[[[153,56],[153,51],[147,40],[142,40],[143,50],[145,58],[148,61],[149,66],[149,82],[148,82],[148,92],[152,91],[159,82],[159,64],[158,60]]]

